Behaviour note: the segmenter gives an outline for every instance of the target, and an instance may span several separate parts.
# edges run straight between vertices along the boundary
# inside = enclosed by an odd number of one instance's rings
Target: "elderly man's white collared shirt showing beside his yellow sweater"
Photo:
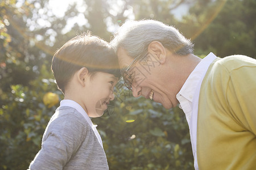
[[[179,100],[180,103],[179,107],[183,109],[188,122],[192,151],[195,160],[195,169],[199,169],[196,155],[196,128],[200,87],[210,63],[212,63],[216,58],[217,57],[213,53],[209,53],[207,57],[202,59],[196,68],[192,71],[192,73],[188,76],[188,79],[181,87],[179,93],[176,95],[177,100]]]

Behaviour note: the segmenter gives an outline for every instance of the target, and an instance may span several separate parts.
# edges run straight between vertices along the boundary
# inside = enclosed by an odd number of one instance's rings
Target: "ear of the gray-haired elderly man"
[[[162,64],[166,62],[166,48],[164,48],[163,44],[159,41],[152,41],[148,45],[148,52],[155,54],[159,62]]]

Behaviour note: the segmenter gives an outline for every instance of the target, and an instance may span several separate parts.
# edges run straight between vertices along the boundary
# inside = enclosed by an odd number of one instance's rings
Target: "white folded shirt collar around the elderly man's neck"
[[[207,71],[210,63],[212,63],[216,58],[217,57],[213,53],[209,53],[207,57],[203,58],[192,71],[192,73],[188,76],[188,79],[181,87],[181,90],[177,96],[181,95],[185,97],[185,99],[192,102],[198,83]]]

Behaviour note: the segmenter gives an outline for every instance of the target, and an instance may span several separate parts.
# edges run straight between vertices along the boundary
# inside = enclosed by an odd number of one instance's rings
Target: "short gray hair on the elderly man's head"
[[[191,40],[186,39],[176,28],[156,20],[128,20],[115,33],[110,42],[115,52],[126,50],[130,57],[136,58],[147,53],[148,45],[159,41],[165,48],[181,56],[193,53]]]

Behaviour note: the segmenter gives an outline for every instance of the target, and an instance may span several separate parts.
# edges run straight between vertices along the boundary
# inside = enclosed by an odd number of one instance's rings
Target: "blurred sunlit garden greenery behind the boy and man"
[[[126,19],[175,25],[195,54],[256,53],[255,0],[2,0],[0,2],[0,169],[27,169],[63,95],[52,55],[92,31],[110,41]],[[93,118],[110,169],[193,169],[189,130],[178,107],[135,99],[118,84],[110,116]]]

